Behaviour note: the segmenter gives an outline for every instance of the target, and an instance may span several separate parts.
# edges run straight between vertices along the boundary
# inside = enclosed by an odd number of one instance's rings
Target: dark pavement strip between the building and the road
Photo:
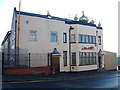
[[[30,74],[30,75],[3,75],[2,82],[49,82],[49,81],[61,81],[61,80],[75,80],[75,79],[83,79],[96,77],[98,75],[109,73],[112,71],[83,71],[83,72],[61,72],[50,75],[42,75],[42,74]]]

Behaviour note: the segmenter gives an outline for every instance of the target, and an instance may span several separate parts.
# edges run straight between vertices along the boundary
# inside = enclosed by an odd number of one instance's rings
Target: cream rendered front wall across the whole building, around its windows
[[[28,22],[28,23],[26,23]],[[54,48],[60,52],[60,70],[69,71],[69,27],[70,25],[65,24],[64,21],[45,19],[40,17],[32,17],[21,15],[20,23],[20,48],[28,49],[30,53],[52,53]],[[76,62],[77,66],[79,65],[79,51],[81,51],[82,46],[94,46],[94,50],[84,50],[83,52],[97,52],[95,44],[80,44],[78,43],[78,34],[87,34],[87,35],[96,35],[96,27],[77,25],[73,24],[74,30],[71,31],[71,34],[76,34],[76,43],[72,44],[72,52],[76,52]],[[37,31],[37,40],[30,41],[29,34],[30,30]],[[58,42],[50,41],[51,32],[57,32]],[[102,30],[101,30],[102,32]],[[67,33],[67,43],[63,43],[63,33]],[[101,33],[100,33],[101,35]],[[103,46],[101,45],[102,48]],[[63,51],[67,51],[67,66],[63,65]],[[47,62],[47,58],[45,59]],[[34,63],[34,59],[31,61],[32,67],[39,66],[39,63]],[[46,64],[47,65],[47,64]],[[91,65],[87,66],[88,69],[96,69],[96,66],[93,68]],[[80,67],[77,67],[76,70],[81,70]],[[84,70],[84,69],[82,69]]]

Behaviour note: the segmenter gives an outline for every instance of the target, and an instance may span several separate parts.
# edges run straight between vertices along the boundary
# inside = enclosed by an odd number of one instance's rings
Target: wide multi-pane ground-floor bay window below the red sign
[[[79,52],[79,65],[96,64],[96,52]]]

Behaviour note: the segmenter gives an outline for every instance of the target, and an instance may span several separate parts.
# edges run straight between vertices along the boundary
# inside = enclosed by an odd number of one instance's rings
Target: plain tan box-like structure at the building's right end
[[[116,55],[116,53],[105,51],[104,69],[105,70],[117,70],[117,55]]]

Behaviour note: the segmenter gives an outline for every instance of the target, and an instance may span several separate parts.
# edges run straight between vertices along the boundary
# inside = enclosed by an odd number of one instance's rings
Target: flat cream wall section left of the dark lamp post
[[[28,21],[28,23],[26,23]],[[28,51],[33,54],[46,54],[42,66],[47,65],[47,54],[52,53],[54,48],[62,54],[63,51],[68,51],[68,30],[69,25],[65,25],[63,21],[50,20],[38,17],[31,17],[26,15],[21,15],[21,30],[20,30],[20,48],[28,49]],[[37,40],[30,41],[29,34],[30,30],[37,31]],[[51,32],[57,32],[58,42],[50,42]],[[67,43],[63,43],[63,32],[67,33]],[[68,56],[69,57],[69,56]],[[34,57],[31,57],[34,58]],[[69,58],[68,58],[69,59]],[[69,61],[68,61],[69,63]],[[31,66],[37,67],[41,66],[40,62],[35,62],[35,58],[31,60]]]

